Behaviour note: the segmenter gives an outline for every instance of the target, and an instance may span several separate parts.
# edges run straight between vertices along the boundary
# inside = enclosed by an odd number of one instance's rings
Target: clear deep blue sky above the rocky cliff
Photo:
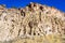
[[[29,2],[37,2],[40,4],[47,4],[49,6],[54,6],[63,12],[65,12],[65,0],[0,0],[0,4],[5,4],[6,8],[16,6],[24,8]]]

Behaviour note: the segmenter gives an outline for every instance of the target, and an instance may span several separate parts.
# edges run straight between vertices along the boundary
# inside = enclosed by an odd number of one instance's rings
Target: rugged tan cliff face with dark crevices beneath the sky
[[[0,5],[0,41],[49,34],[65,34],[65,15],[61,11],[38,3],[30,3],[24,9]]]

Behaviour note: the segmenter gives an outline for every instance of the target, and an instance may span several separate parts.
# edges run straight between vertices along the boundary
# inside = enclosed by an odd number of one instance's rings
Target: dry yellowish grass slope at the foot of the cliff
[[[34,37],[32,39],[17,39],[12,43],[65,43],[65,37],[49,34],[46,37]]]

